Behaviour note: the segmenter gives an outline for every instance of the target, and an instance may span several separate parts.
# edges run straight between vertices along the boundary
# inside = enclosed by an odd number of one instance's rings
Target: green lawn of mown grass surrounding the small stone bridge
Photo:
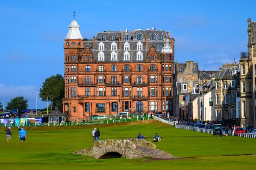
[[[170,127],[158,121],[150,124],[120,123],[118,125],[94,125],[74,127],[31,127],[27,130],[27,141],[20,142],[18,130],[12,129],[12,139],[6,143],[6,134],[0,129],[1,159],[0,167],[8,169],[254,169],[256,156],[231,156],[255,154],[256,139],[242,137],[222,137],[197,133]],[[141,122],[142,123],[142,122]],[[109,127],[111,126],[111,127]],[[78,149],[92,147],[92,129],[100,129],[101,140],[127,139],[142,133],[152,141],[154,133],[163,140],[156,143],[157,149],[169,152],[180,159],[104,159],[95,160],[88,156],[74,155]],[[67,129],[65,129],[67,128]],[[65,130],[64,130],[65,129]],[[229,156],[222,156],[229,155]]]

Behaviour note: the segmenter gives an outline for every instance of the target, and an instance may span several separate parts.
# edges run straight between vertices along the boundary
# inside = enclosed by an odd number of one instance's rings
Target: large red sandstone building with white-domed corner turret
[[[118,112],[172,115],[174,38],[152,29],[103,31],[83,39],[73,20],[64,44],[64,113],[70,119]]]

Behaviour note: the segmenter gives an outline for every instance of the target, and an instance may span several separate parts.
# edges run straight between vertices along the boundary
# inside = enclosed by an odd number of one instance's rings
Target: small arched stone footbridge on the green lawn
[[[96,159],[106,158],[174,158],[172,155],[156,149],[156,145],[144,139],[108,139],[105,141],[95,141],[93,148],[81,149],[74,152],[83,156],[92,156]]]

